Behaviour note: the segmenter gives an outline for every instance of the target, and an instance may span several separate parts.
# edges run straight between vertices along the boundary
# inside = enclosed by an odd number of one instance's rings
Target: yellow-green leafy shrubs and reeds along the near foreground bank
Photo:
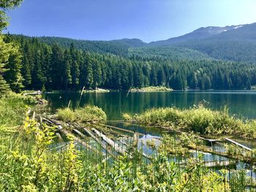
[[[1,130],[0,139],[1,191],[230,191],[225,177],[195,158],[181,169],[158,155],[143,172],[128,157],[110,165],[89,158],[71,135],[59,153],[51,148],[54,128],[29,118],[18,132]]]

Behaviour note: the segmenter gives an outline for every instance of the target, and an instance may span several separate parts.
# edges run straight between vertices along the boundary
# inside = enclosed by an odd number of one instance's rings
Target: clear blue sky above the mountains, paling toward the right
[[[145,42],[202,26],[256,22],[256,0],[24,0],[8,12],[12,34]]]

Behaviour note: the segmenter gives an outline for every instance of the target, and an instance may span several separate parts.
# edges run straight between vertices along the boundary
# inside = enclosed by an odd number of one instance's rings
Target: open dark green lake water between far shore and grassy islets
[[[222,109],[227,106],[230,114],[256,118],[256,91],[173,91],[165,93],[129,93],[116,91],[110,93],[80,93],[61,92],[46,93],[45,99],[50,101],[53,111],[67,107],[69,100],[71,107],[82,107],[86,104],[101,107],[108,115],[108,120],[120,120],[121,114],[131,115],[143,112],[152,107],[189,108],[201,101],[208,101],[208,107]]]

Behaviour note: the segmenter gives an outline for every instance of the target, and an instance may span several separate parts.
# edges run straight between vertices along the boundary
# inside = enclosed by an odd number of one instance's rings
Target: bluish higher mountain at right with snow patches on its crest
[[[184,36],[152,42],[148,46],[154,46],[156,50],[166,46],[187,47],[211,58],[256,63],[256,23],[221,29],[218,32],[219,28],[214,31],[211,31],[212,27],[199,28]]]

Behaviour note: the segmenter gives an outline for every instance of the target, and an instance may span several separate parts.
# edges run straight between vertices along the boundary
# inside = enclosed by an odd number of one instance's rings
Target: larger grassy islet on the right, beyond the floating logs
[[[211,136],[236,135],[256,138],[256,120],[241,120],[229,115],[228,110],[211,110],[203,105],[180,110],[175,107],[151,109],[135,117],[140,123],[150,126],[195,131]]]

